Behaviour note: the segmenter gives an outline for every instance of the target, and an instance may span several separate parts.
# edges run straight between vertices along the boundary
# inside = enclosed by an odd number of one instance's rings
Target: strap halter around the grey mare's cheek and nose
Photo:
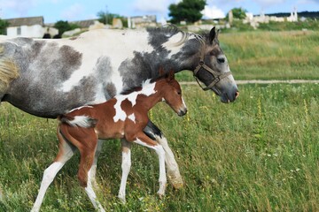
[[[231,72],[224,72],[224,73],[220,73],[220,72],[215,72],[213,69],[211,69],[210,67],[208,67],[205,62],[204,62],[204,55],[205,55],[205,52],[203,51],[203,53],[201,54],[200,56],[200,60],[199,60],[199,63],[198,63],[198,66],[195,68],[194,70],[194,73],[193,73],[193,76],[194,78],[196,79],[196,81],[198,82],[198,85],[199,87],[201,87],[203,90],[209,90],[211,88],[213,88],[219,81],[221,81],[222,79],[228,77]],[[207,72],[210,72],[212,73],[214,79],[213,81],[207,86],[207,87],[202,87],[198,81],[198,77],[196,76],[198,71],[203,68],[205,69]]]

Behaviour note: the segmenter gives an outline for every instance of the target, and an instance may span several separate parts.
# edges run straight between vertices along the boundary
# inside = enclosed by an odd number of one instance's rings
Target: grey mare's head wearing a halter
[[[204,90],[211,89],[216,95],[220,95],[222,102],[234,102],[239,92],[227,58],[219,45],[215,27],[209,34],[204,34],[201,42],[202,47],[194,76],[206,85],[202,87]]]

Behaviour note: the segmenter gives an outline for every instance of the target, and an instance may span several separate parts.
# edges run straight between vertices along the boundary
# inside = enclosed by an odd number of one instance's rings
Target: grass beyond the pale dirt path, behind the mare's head
[[[219,40],[235,79],[319,79],[319,31],[222,33]]]

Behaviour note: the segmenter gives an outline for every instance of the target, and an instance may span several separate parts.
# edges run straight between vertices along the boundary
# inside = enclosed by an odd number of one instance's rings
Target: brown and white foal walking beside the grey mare
[[[143,129],[149,121],[147,113],[160,101],[165,101],[179,116],[186,112],[181,87],[170,72],[154,82],[146,80],[143,87],[125,95],[116,95],[107,102],[71,110],[59,117],[58,155],[43,173],[39,194],[32,211],[41,207],[44,193],[63,165],[79,149],[81,160],[78,171],[80,185],[85,188],[90,201],[99,211],[105,211],[97,201],[90,179],[90,171],[97,148],[97,140],[122,140],[122,178],[119,197],[125,202],[125,187],[130,170],[130,145],[132,142],[152,148],[159,155],[159,195],[164,195],[167,177],[164,149],[150,139]]]

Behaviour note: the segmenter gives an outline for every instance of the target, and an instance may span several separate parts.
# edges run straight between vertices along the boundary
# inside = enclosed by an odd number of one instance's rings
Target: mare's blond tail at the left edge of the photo
[[[18,77],[18,66],[11,58],[5,57],[4,46],[0,45],[0,95],[4,94],[12,80]]]

